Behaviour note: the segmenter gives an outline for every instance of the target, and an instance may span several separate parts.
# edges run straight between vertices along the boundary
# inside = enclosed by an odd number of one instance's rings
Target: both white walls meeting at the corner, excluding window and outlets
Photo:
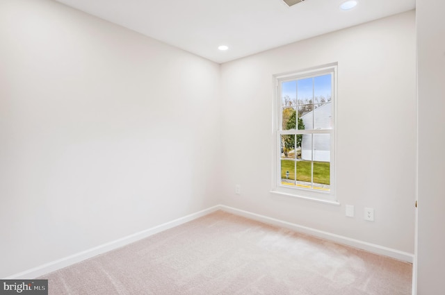
[[[0,277],[222,195],[225,205],[414,251],[414,12],[221,71],[49,0],[1,1],[0,40]],[[341,206],[270,194],[272,75],[330,62],[339,62]],[[365,206],[374,223],[362,219]]]

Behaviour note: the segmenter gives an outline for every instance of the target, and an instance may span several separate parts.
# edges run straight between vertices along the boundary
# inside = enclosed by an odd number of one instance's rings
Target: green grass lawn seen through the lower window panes
[[[281,177],[295,180],[295,166],[293,160],[281,160]],[[311,161],[297,161],[297,180],[311,182]],[[314,161],[314,183],[330,184],[330,162]]]

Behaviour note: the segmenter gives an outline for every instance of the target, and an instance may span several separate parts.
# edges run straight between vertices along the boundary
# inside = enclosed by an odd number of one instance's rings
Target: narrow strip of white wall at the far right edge
[[[416,1],[419,212],[417,293],[444,294],[445,3]]]

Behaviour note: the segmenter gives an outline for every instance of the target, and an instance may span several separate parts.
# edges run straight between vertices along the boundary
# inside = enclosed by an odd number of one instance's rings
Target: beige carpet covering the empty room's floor
[[[217,211],[42,278],[54,295],[409,295],[412,264]]]

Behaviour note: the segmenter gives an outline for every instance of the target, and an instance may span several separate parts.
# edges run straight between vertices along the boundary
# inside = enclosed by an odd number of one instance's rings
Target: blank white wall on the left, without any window
[[[0,42],[0,277],[219,203],[219,65],[47,0]]]

